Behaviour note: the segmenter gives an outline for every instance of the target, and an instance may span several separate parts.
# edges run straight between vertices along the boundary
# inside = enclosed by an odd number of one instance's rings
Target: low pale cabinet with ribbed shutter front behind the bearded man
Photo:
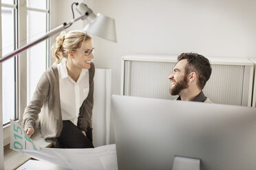
[[[253,62],[246,58],[208,58],[212,74],[203,89],[215,104],[251,106]],[[133,55],[122,57],[121,94],[158,99],[171,96],[168,75],[177,56]]]

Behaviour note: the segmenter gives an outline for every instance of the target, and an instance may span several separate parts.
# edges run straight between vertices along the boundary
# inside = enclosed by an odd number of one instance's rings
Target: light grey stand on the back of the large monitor
[[[175,156],[172,170],[200,170],[200,159]]]

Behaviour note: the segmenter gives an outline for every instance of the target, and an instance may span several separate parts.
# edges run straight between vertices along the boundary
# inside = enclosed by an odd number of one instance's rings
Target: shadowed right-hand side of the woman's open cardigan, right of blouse
[[[89,93],[79,110],[77,126],[81,131],[87,131],[87,127],[92,127],[92,109],[94,107],[94,63],[91,62],[89,69]]]

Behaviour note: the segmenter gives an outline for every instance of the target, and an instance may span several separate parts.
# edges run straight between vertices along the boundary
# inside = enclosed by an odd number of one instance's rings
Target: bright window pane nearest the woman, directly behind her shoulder
[[[47,10],[47,1],[27,0],[27,40],[32,42],[48,32],[49,13]],[[40,21],[40,22],[39,22]],[[49,51],[49,40],[44,40],[38,45],[28,49],[28,95],[29,102],[36,88],[37,82],[45,69],[49,66],[47,54]]]

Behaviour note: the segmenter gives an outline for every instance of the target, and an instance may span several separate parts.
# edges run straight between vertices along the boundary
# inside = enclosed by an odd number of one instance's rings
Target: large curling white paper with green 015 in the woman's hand
[[[19,123],[11,121],[11,135],[17,136],[18,134],[24,134],[24,130]],[[18,134],[17,134],[18,133]],[[19,139],[19,141],[17,141]],[[16,151],[21,151],[28,154],[32,158],[37,160],[43,160],[52,162],[61,167],[67,169],[92,169],[92,170],[116,170],[117,158],[116,158],[116,145],[105,145],[90,149],[55,149],[55,148],[40,148],[23,146],[23,138],[14,137],[11,138],[10,147]],[[25,139],[28,140],[28,139]],[[32,140],[30,139],[32,142]],[[21,144],[17,144],[21,143]],[[25,145],[28,142],[25,143]],[[32,142],[33,143],[33,142]],[[34,146],[34,145],[33,145]],[[27,148],[27,149],[24,149]],[[37,149],[39,148],[39,149]]]

